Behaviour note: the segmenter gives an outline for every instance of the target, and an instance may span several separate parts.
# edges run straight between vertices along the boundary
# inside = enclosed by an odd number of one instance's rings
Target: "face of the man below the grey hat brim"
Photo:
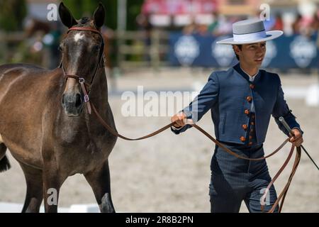
[[[243,44],[242,50],[237,45],[234,46],[236,54],[240,57],[240,62],[245,65],[260,67],[264,55],[266,54],[266,42]]]

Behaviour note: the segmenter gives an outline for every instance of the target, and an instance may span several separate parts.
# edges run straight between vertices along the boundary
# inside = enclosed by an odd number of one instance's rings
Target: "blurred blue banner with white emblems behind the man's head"
[[[236,62],[232,45],[218,45],[216,41],[231,36],[169,34],[169,62],[172,66],[231,67]],[[284,36],[267,41],[267,53],[262,67],[315,68],[319,67],[317,35]]]

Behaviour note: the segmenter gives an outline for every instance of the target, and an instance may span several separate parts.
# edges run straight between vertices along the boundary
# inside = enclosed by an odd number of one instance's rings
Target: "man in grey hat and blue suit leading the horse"
[[[185,109],[172,116],[176,134],[191,128],[186,119],[196,123],[211,109],[217,140],[241,156],[264,156],[263,143],[272,115],[281,131],[289,132],[279,122],[283,116],[294,135],[290,142],[300,146],[302,131],[284,100],[278,74],[259,70],[266,53],[266,41],[278,38],[282,31],[265,32],[259,19],[233,24],[233,38],[218,43],[233,45],[239,63],[228,71],[213,72],[200,94]],[[211,160],[211,212],[238,212],[242,200],[250,212],[261,211],[261,197],[271,177],[267,163],[241,160],[216,145]],[[269,190],[264,211],[276,201],[274,186]],[[278,207],[275,209],[278,211]]]

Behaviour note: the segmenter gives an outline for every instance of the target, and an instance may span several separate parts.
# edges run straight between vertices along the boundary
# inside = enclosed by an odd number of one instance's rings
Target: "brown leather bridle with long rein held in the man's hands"
[[[95,28],[89,28],[89,27],[72,27],[69,28],[69,31],[67,31],[67,33],[69,33],[70,31],[91,31],[93,33],[97,33],[101,36],[102,40],[103,37],[100,33],[100,31],[96,30]],[[84,101],[87,104],[88,107],[88,111],[89,114],[91,114],[91,111],[94,111],[94,114],[96,114],[97,119],[99,120],[99,122],[113,135],[115,135],[116,137],[122,138],[123,140],[130,140],[130,141],[134,141],[134,140],[144,140],[146,138],[150,138],[154,135],[157,135],[159,133],[162,133],[163,131],[167,130],[168,128],[172,127],[174,125],[174,123],[169,123],[167,126],[164,126],[162,128],[159,128],[159,130],[150,133],[148,135],[144,135],[140,138],[127,138],[119,133],[117,133],[113,128],[111,128],[111,126],[108,126],[108,124],[106,123],[106,121],[103,120],[103,118],[101,117],[101,115],[99,114],[99,112],[96,110],[96,107],[94,106],[94,104],[92,104],[90,102],[89,99],[89,93],[91,91],[91,84],[94,81],[94,77],[96,76],[96,72],[99,69],[99,67],[102,67],[103,65],[101,64],[102,60],[104,60],[103,57],[103,47],[104,47],[104,41],[102,41],[101,44],[101,50],[99,53],[99,63],[98,65],[96,65],[96,69],[94,71],[93,77],[91,79],[91,83],[87,83],[84,80],[84,77],[75,75],[75,74],[67,74],[65,72],[65,69],[63,67],[63,62],[61,62],[60,67],[62,67],[63,70],[63,74],[65,77],[65,82],[67,81],[68,78],[72,78],[72,79],[77,79],[79,81],[79,84],[81,84],[81,88],[82,88],[82,92],[84,94]],[[243,159],[243,160],[250,160],[250,161],[260,161],[260,160],[264,160],[268,157],[271,157],[272,155],[276,154],[277,152],[279,152],[279,150],[281,150],[281,148],[284,147],[284,145],[286,145],[286,143],[289,142],[289,138],[287,138],[286,140],[284,140],[284,143],[282,143],[279,148],[277,148],[276,150],[274,150],[274,152],[272,152],[271,154],[264,156],[264,157],[259,157],[259,158],[248,158],[248,157],[244,157],[241,155],[237,155],[236,153],[234,153],[232,150],[228,149],[225,147],[225,145],[223,145],[223,143],[218,142],[218,140],[216,140],[215,138],[213,138],[213,136],[211,136],[209,133],[207,133],[206,131],[203,130],[203,128],[201,128],[200,126],[197,126],[195,123],[192,123],[191,126],[193,126],[194,128],[196,128],[198,131],[200,131],[201,133],[203,133],[203,135],[206,135],[206,137],[208,139],[210,139],[211,141],[213,141],[213,143],[216,143],[216,145],[218,145],[220,148],[223,148],[223,150],[225,150],[225,152],[229,153],[230,155],[233,155],[237,158]],[[274,184],[274,182],[276,181],[276,179],[279,177],[279,175],[281,174],[281,172],[285,169],[286,165],[288,165],[289,160],[291,159],[291,156],[293,155],[293,151],[295,150],[295,146],[291,145],[291,150],[289,152],[288,157],[286,158],[284,164],[281,166],[281,168],[279,169],[279,171],[276,173],[276,175],[274,176],[274,178],[272,179],[272,181],[268,184],[267,189],[264,191],[264,194],[262,195],[262,199],[261,199],[261,210],[264,211],[264,204],[265,204],[265,200],[267,197],[267,193],[269,192],[270,187],[272,187],[272,184]],[[296,148],[296,158],[295,158],[295,162],[293,163],[293,168],[291,170],[291,174],[289,175],[289,179],[288,182],[286,183],[284,189],[282,190],[282,192],[279,194],[278,198],[276,199],[274,205],[272,206],[272,208],[268,211],[268,213],[273,213],[274,210],[276,209],[276,206],[279,205],[279,202],[281,202],[280,206],[279,206],[279,212],[281,212],[282,206],[284,205],[284,199],[286,197],[286,194],[288,192],[289,186],[291,184],[293,175],[295,174],[298,164],[301,160],[301,148],[297,147]]]

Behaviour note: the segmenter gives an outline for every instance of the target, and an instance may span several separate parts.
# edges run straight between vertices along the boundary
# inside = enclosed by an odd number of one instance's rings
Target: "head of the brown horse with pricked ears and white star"
[[[100,29],[104,23],[105,9],[99,4],[92,19],[84,17],[77,21],[61,3],[59,14],[62,23],[69,28],[60,44],[61,65],[66,80],[62,108],[67,116],[80,116],[84,103],[89,99],[84,90],[89,90],[103,60],[104,42]],[[83,84],[86,86],[83,87]]]

